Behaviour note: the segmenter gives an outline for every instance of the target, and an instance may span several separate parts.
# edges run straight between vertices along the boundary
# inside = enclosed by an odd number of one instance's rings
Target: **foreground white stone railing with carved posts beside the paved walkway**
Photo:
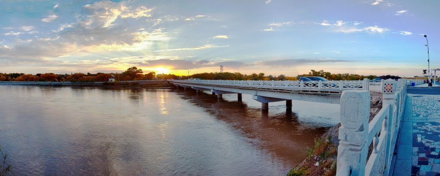
[[[404,111],[406,87],[405,79],[383,81],[382,109],[370,123],[370,92],[347,90],[342,93],[336,176],[388,175]],[[372,143],[373,151],[367,160]]]

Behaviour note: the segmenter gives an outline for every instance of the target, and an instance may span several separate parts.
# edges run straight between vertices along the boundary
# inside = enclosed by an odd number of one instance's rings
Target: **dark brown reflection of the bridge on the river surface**
[[[301,124],[297,114],[284,105],[269,107],[269,110],[248,107],[246,102],[256,102],[250,95],[242,95],[242,101],[239,101],[237,94],[223,94],[223,99],[217,99],[209,91],[198,94],[188,90],[176,92],[185,95],[182,98],[190,100],[194,105],[226,122],[246,136],[249,143],[273,154],[286,168],[302,162],[307,154],[306,148],[312,147],[314,138],[321,136],[328,129],[310,123]]]

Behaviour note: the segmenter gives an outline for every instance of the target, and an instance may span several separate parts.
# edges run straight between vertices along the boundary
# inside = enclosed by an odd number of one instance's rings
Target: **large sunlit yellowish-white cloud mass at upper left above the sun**
[[[141,23],[137,19],[149,17],[151,10],[143,6],[133,8],[128,3],[130,1],[100,1],[85,5],[82,13],[76,16],[76,22],[60,24],[58,29],[52,30],[55,34],[49,34],[52,37],[12,41],[8,47],[0,48],[0,58],[16,63],[41,63],[48,61],[48,58],[70,55],[148,49],[154,43],[170,40],[163,28],[138,30],[141,27],[133,26]],[[22,31],[11,31],[4,35],[38,32],[34,31],[34,26],[17,29]]]

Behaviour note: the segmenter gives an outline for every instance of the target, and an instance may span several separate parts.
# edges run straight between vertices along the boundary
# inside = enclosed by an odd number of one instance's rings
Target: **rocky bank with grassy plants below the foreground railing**
[[[382,109],[383,94],[370,91],[370,119]],[[292,168],[287,176],[335,176],[336,160],[338,157],[339,127],[341,123],[330,128],[321,137],[315,138],[315,146],[307,148],[306,159],[298,166]],[[368,155],[371,154],[373,146],[369,147]]]

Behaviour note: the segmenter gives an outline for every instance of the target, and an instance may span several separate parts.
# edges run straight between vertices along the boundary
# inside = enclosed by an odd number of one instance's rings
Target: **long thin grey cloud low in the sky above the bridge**
[[[282,59],[272,61],[262,61],[261,64],[265,66],[299,66],[312,63],[343,63],[353,62],[347,60],[336,60],[330,58],[317,58],[317,59]]]

